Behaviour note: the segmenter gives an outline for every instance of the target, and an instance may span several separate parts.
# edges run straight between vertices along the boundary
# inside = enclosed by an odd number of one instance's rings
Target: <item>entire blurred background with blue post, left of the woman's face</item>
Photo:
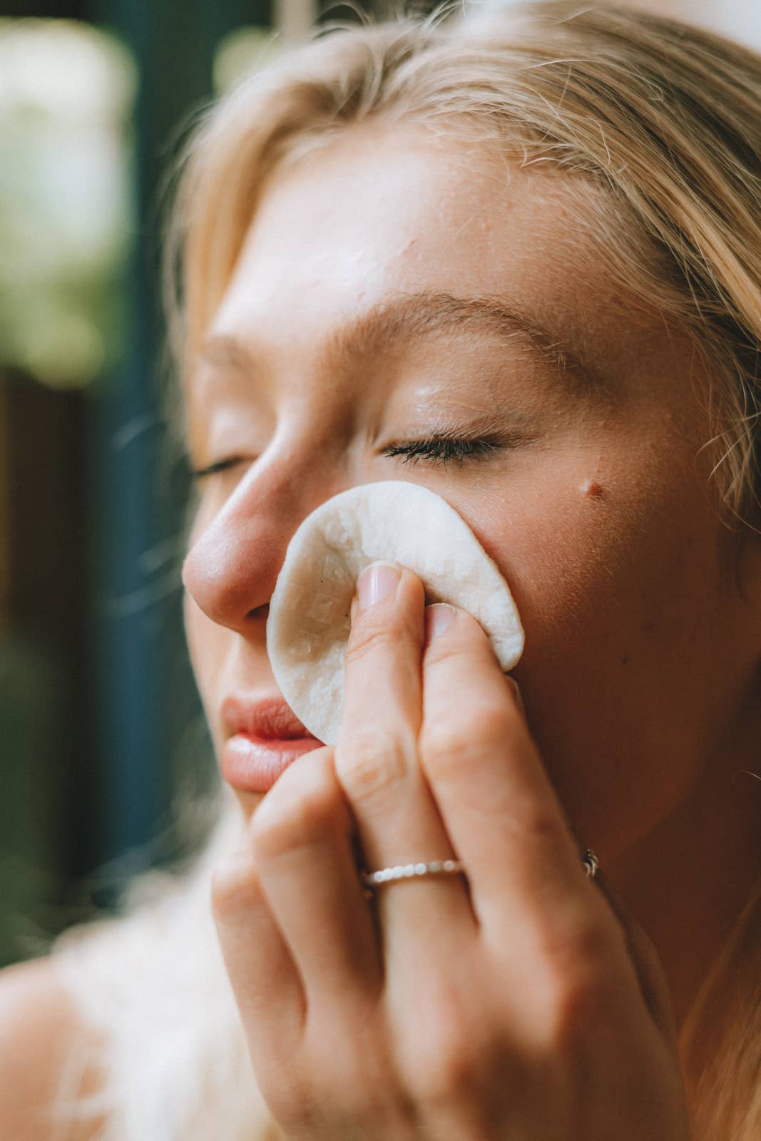
[[[2,10],[0,965],[203,835],[203,811],[173,827],[213,769],[161,414],[161,187],[273,41],[268,0]],[[306,27],[310,3],[277,18]]]

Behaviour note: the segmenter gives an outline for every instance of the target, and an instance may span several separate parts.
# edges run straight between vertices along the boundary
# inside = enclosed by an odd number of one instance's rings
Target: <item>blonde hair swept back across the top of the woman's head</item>
[[[761,59],[672,21],[567,2],[318,40],[241,83],[187,151],[167,261],[180,361],[268,176],[371,120],[464,133],[597,192],[584,240],[632,305],[691,334],[712,378],[722,499],[758,524]]]

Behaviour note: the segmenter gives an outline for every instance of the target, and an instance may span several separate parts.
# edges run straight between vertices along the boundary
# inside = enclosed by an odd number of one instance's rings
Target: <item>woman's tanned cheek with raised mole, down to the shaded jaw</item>
[[[526,629],[516,679],[532,733],[580,834],[607,851],[677,803],[704,760],[719,597],[715,519],[695,484],[623,476],[513,495],[509,528],[492,517],[485,542]]]

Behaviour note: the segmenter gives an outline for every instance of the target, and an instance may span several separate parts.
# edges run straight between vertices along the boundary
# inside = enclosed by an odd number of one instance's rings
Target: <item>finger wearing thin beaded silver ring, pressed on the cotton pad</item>
[[[353,607],[335,769],[370,871],[454,857],[418,759],[423,641],[420,578],[395,564],[367,567]],[[389,946],[408,952],[414,942],[418,953],[422,945],[429,953],[432,940],[440,942],[443,923],[475,930],[461,876],[426,876],[377,890]]]

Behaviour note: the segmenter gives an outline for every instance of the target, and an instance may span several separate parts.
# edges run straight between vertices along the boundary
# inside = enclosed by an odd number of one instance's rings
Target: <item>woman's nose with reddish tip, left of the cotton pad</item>
[[[307,515],[340,487],[250,469],[225,504],[205,521],[183,564],[183,584],[218,625],[246,637],[267,617],[288,543]],[[208,493],[213,494],[213,491]]]

